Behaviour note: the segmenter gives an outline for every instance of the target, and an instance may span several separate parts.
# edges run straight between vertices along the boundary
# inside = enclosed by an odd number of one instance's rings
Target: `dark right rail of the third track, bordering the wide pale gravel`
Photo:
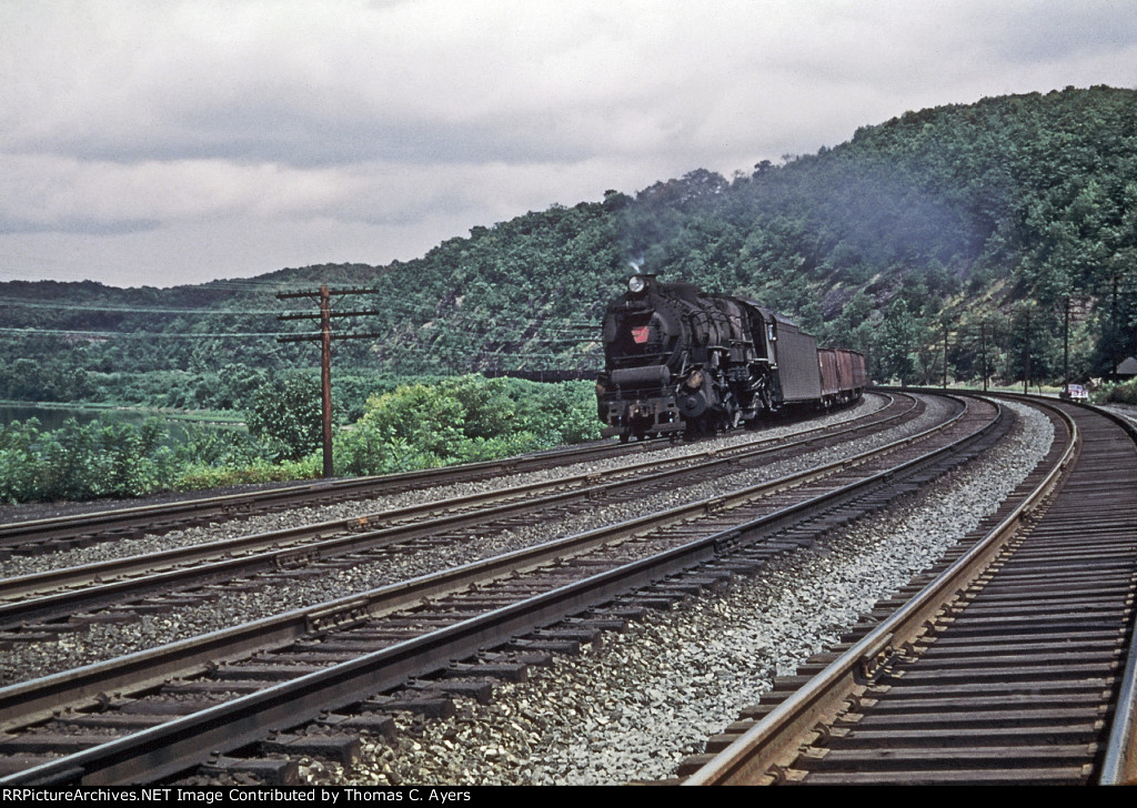
[[[998,414],[999,410],[996,407],[996,416]],[[948,423],[956,423],[962,417],[961,413]],[[957,450],[961,443],[978,440],[980,435],[994,428],[996,422],[997,417],[980,428],[952,441],[948,445],[911,458],[898,464],[896,468],[873,474],[870,480],[886,482],[893,480],[902,468],[911,470],[923,464],[935,463],[945,453]],[[924,434],[938,432],[945,426],[940,425]],[[908,441],[897,441],[889,445],[895,447],[906,442]],[[883,448],[879,448],[863,455],[881,453],[882,451]],[[533,595],[522,602],[498,608],[478,617],[464,619],[351,661],[333,665],[224,705],[110,741],[94,749],[67,756],[16,775],[9,775],[0,780],[0,784],[32,785],[82,782],[84,785],[101,785],[151,781],[167,776],[199,763],[204,750],[233,750],[251,740],[263,738],[266,730],[294,726],[317,716],[323,710],[367,698],[384,688],[401,683],[407,676],[421,675],[424,670],[437,669],[447,665],[450,659],[470,656],[482,648],[500,644],[514,634],[562,619],[568,614],[607,602],[636,586],[650,583],[673,572],[690,568],[714,558],[724,547],[737,545],[747,533],[764,535],[772,525],[786,523],[795,517],[802,518],[803,513],[814,514],[819,508],[847,501],[857,493],[864,493],[871,486],[868,485],[866,480],[858,480],[837,491],[819,494],[806,502],[788,506],[775,514],[687,542],[654,557],[624,564],[616,569]],[[699,505],[707,507],[715,501],[717,499],[704,500]],[[642,522],[640,519],[623,523],[616,528],[642,533],[642,530],[634,526],[634,523]],[[594,531],[584,535],[591,536],[590,543],[592,544],[609,543],[603,535],[598,535],[606,532],[607,530]],[[565,543],[566,540],[561,540],[551,544],[563,545]],[[532,553],[533,549],[491,560],[499,564],[504,570],[511,570],[517,568],[517,565],[512,560],[513,558],[528,555],[529,566],[537,566],[537,559]],[[551,552],[551,557],[555,558],[564,558],[564,555],[558,551]],[[429,577],[437,582],[441,577],[454,575],[456,572],[451,570]],[[420,578],[418,582],[425,584],[426,578]],[[341,616],[347,622],[356,622],[359,619],[359,615],[367,610],[368,607],[358,602],[352,607],[350,615],[338,615],[334,610],[330,610],[326,616],[332,619],[334,625]],[[301,616],[300,613],[293,613],[293,615]],[[302,615],[302,618],[307,620],[312,616]],[[150,652],[132,656],[139,658],[148,653]],[[89,668],[84,670],[89,670]],[[52,678],[59,680],[61,677]],[[40,682],[42,683],[43,680]],[[16,689],[0,691],[0,706],[3,706],[13,690]],[[142,772],[146,774],[142,775]]]

